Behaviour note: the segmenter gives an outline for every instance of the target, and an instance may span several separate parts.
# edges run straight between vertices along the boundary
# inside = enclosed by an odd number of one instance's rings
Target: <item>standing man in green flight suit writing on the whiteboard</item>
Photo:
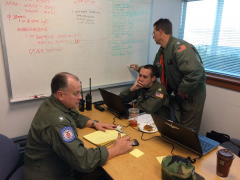
[[[166,88],[174,93],[175,113],[180,123],[199,131],[206,99],[206,75],[200,55],[192,44],[172,36],[172,23],[159,19],[154,23],[153,39],[159,44],[154,66],[161,78],[164,69]],[[164,66],[160,63],[163,55]],[[139,66],[130,67],[139,71]]]

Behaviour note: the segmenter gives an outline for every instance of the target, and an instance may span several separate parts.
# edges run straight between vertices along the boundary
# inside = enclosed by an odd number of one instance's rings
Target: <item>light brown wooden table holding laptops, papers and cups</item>
[[[90,117],[91,119],[99,120],[100,122],[113,123],[114,116],[108,112],[100,112],[96,110],[94,107],[91,111],[80,112],[83,115]],[[116,124],[121,124],[123,126],[128,125],[128,120],[122,119],[119,120],[115,118]],[[87,148],[95,147],[95,145],[89,143],[85,139],[82,138],[83,135],[94,132],[95,130],[92,128],[84,128],[78,129],[79,138],[84,141],[85,146]],[[139,146],[137,148],[144,152],[144,155],[136,158],[129,153],[117,156],[109,161],[103,166],[105,171],[114,179],[161,179],[161,164],[157,161],[156,157],[158,156],[167,156],[171,155],[172,145],[169,142],[165,141],[160,137],[159,132],[152,134],[143,134],[143,139],[149,139],[154,137],[153,139],[143,141],[141,140],[142,132],[138,131],[138,129],[134,129],[132,127],[123,127],[123,131],[126,132],[133,139],[137,139],[139,142]],[[196,172],[202,175],[205,180],[216,180],[216,179],[226,179],[226,180],[239,180],[240,175],[238,171],[240,171],[240,159],[238,156],[235,156],[233,160],[229,175],[227,178],[221,178],[216,175],[216,162],[217,156],[216,152],[222,147],[216,148],[214,151],[208,153],[203,156],[201,159],[198,159],[196,163],[193,165],[196,168]],[[198,157],[196,154],[182,148],[174,144],[173,153],[175,155],[180,155],[183,157],[190,156],[192,159]]]

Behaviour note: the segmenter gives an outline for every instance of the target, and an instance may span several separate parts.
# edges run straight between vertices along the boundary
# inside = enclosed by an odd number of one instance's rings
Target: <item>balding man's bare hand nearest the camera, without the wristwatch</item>
[[[114,145],[108,148],[108,159],[111,159],[117,155],[124,154],[128,152],[130,149],[132,149],[133,142],[130,141],[130,137],[126,136],[124,138],[121,138],[121,134],[118,133],[118,138],[115,141]]]

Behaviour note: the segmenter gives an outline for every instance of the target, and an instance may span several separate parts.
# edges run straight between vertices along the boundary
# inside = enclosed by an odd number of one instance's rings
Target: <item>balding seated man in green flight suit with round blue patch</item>
[[[132,148],[130,137],[121,138],[120,134],[109,148],[85,148],[78,138],[77,127],[105,131],[116,126],[91,120],[78,113],[76,109],[82,98],[82,89],[75,75],[66,72],[56,74],[51,90],[52,95],[39,107],[28,133],[24,180],[93,178],[100,172],[96,169],[100,169],[108,159]]]

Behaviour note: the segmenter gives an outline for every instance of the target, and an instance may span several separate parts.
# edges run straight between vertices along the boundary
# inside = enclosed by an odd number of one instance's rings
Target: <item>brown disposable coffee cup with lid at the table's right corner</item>
[[[220,149],[217,152],[217,175],[220,177],[227,177],[234,155],[228,149]]]

